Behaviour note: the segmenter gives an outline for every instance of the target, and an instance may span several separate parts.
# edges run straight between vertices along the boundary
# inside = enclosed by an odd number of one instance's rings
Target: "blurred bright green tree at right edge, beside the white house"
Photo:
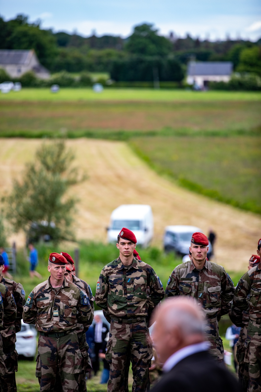
[[[240,53],[238,72],[256,73],[261,76],[261,48],[253,46]]]

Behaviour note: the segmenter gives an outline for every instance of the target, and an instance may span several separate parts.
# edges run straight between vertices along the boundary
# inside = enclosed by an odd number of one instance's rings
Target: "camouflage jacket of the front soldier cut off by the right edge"
[[[249,294],[249,298],[248,298]],[[247,310],[252,320],[261,318],[261,262],[242,276],[236,287],[233,307]]]

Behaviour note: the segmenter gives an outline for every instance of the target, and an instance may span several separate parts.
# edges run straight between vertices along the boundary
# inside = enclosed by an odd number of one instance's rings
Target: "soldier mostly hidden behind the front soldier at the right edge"
[[[248,271],[260,263],[260,257],[252,254],[248,263]],[[249,295],[247,296],[249,299]],[[238,360],[238,379],[242,388],[242,392],[247,392],[248,387],[248,363],[244,361],[245,358],[245,341],[247,339],[247,328],[249,322],[249,306],[246,310],[241,310],[232,305],[229,312],[229,317],[237,327],[241,327],[238,341],[236,343],[236,359]]]

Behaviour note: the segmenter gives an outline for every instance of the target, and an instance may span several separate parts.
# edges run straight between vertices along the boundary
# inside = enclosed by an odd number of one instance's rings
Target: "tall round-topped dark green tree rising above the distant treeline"
[[[142,24],[134,28],[124,49],[143,56],[166,56],[171,52],[172,44],[167,38],[158,35],[153,24]]]

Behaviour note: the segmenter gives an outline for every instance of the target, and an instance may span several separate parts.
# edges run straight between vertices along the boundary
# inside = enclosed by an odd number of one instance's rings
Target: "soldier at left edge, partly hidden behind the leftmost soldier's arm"
[[[2,257],[2,256],[1,256]],[[20,283],[16,283],[14,280],[6,279],[2,276],[2,272],[4,271],[4,260],[0,257],[0,282],[8,287],[11,294],[13,294],[17,316],[14,324],[9,326],[3,330],[1,330],[2,341],[3,341],[3,350],[6,356],[5,366],[6,372],[5,376],[2,378],[3,390],[7,392],[16,392],[16,381],[15,381],[15,372],[18,369],[17,362],[17,351],[15,349],[16,342],[16,332],[21,330],[21,319],[23,316],[23,306],[25,305],[25,291],[23,290],[23,286]]]

